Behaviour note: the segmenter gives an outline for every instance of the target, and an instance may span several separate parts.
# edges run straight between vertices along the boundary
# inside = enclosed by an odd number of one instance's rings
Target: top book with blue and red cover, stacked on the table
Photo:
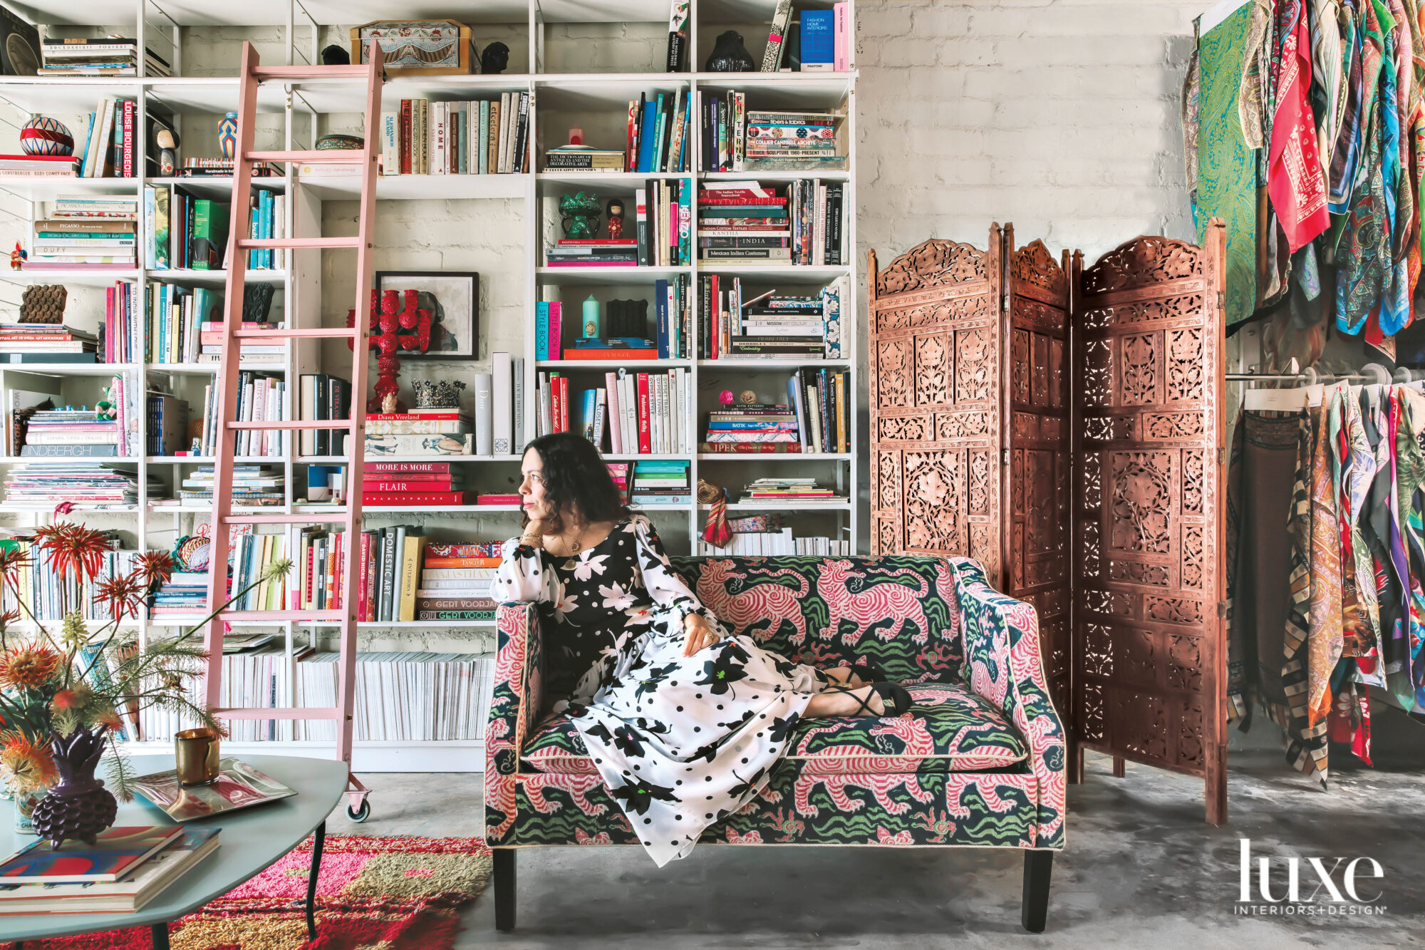
[[[21,847],[0,864],[4,884],[115,882],[182,834],[177,824],[124,824],[100,832],[93,844],[66,840],[53,850],[46,840]]]

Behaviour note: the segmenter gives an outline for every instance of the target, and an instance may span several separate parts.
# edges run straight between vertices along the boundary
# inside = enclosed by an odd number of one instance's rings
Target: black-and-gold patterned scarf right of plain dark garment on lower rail
[[[1327,392],[1330,394],[1330,389]],[[1328,773],[1327,723],[1324,719],[1314,723],[1310,715],[1310,643],[1312,632],[1320,632],[1317,609],[1331,609],[1331,589],[1318,588],[1318,582],[1324,579],[1314,575],[1318,552],[1325,552],[1330,548],[1328,539],[1318,539],[1315,518],[1315,478],[1318,464],[1324,465],[1318,452],[1322,441],[1328,438],[1325,422],[1325,404],[1320,409],[1302,412],[1298,419],[1297,471],[1291,485],[1291,516],[1288,521],[1291,601],[1281,648],[1281,692],[1285,702],[1275,703],[1267,700],[1265,696],[1263,698],[1267,715],[1287,735],[1287,762],[1298,772],[1318,777],[1322,787]],[[1331,533],[1334,533],[1334,526]],[[1325,602],[1318,603],[1318,593]],[[1335,598],[1335,611],[1340,618],[1340,595]]]

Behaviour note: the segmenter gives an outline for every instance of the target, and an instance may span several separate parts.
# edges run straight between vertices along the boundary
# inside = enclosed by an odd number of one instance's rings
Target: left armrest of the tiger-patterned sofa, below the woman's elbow
[[[543,648],[534,603],[502,603],[494,626],[494,695],[484,729],[484,826],[490,844],[497,844],[514,823],[514,775],[524,737],[543,705]]]

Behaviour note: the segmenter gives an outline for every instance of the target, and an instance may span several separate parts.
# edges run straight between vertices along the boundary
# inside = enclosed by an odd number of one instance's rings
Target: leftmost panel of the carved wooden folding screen
[[[925,241],[871,275],[871,551],[1000,578],[1000,234]]]

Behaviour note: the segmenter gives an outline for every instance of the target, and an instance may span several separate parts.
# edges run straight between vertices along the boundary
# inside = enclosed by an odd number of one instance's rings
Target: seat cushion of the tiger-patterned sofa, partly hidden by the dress
[[[804,719],[788,759],[802,772],[895,775],[1003,769],[1025,743],[1003,713],[963,683],[909,686],[915,705],[899,717]],[[524,772],[597,775],[569,716],[550,716],[524,740]]]

